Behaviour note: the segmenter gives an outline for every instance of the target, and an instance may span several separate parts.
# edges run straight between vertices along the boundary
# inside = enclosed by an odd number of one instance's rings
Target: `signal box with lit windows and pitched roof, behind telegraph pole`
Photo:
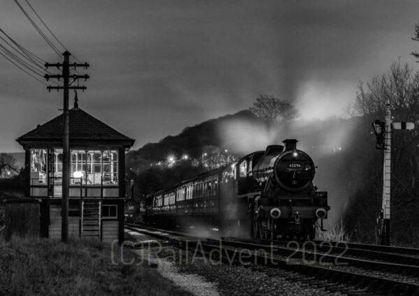
[[[63,114],[25,133],[25,195],[41,198],[41,237],[61,237]],[[125,152],[134,140],[76,105],[69,110],[69,237],[124,239]]]

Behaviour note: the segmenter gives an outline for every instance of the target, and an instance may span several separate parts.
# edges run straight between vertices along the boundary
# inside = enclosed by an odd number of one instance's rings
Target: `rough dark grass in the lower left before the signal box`
[[[190,295],[146,265],[113,265],[110,250],[88,240],[0,240],[0,296]],[[133,253],[124,249],[124,257]]]

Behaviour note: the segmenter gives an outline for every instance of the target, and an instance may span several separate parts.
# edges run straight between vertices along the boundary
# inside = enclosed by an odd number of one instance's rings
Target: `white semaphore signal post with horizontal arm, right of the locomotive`
[[[413,129],[413,122],[392,122],[390,102],[385,104],[385,120],[372,124],[376,135],[376,149],[384,151],[383,202],[379,216],[381,244],[390,245],[390,197],[391,197],[391,134],[393,129]]]

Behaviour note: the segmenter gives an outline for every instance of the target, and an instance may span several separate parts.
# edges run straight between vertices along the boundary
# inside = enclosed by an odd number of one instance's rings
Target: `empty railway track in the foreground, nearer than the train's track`
[[[202,249],[205,256],[232,265],[243,265],[269,276],[281,276],[291,281],[308,283],[311,286],[326,288],[332,292],[347,295],[419,295],[419,266],[378,262],[362,258],[341,256],[340,253],[319,251],[313,248],[304,251],[274,244],[254,244],[236,239],[205,239],[195,235],[166,230],[138,229],[142,226],[127,225],[133,231],[148,232],[147,235],[174,242],[183,249]],[[320,245],[321,242],[318,242]],[[316,248],[316,250],[314,250]],[[338,249],[333,251],[341,251]],[[350,249],[348,247],[348,249]],[[219,252],[214,252],[219,250]],[[246,251],[246,258],[243,253]],[[261,252],[261,251],[265,252]],[[363,250],[374,252],[373,250]],[[353,251],[355,252],[355,251]],[[379,251],[381,252],[381,251]],[[390,253],[390,252],[381,252]],[[214,255],[215,254],[215,255]],[[367,253],[362,253],[363,256]],[[292,255],[292,256],[291,256]],[[369,253],[371,255],[371,253]],[[391,260],[397,254],[392,253]],[[217,257],[218,256],[218,257]],[[380,255],[381,256],[381,255]],[[398,255],[400,256],[400,255]],[[233,258],[233,259],[232,259]],[[382,257],[384,258],[384,257]],[[336,264],[339,262],[339,264]],[[409,276],[406,277],[406,274]]]

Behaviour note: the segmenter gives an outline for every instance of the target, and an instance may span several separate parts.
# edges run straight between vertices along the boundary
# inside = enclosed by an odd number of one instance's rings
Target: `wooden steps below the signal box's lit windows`
[[[82,200],[81,237],[101,240],[101,201]]]

